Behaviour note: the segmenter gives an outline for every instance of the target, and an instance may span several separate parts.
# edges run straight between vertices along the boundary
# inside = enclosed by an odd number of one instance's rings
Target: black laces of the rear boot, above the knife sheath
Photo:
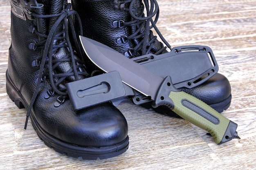
[[[142,40],[135,46],[133,49],[135,51],[141,50],[141,55],[146,55],[150,53],[150,50],[153,48],[153,42],[157,39],[157,36],[153,35],[153,32],[150,30],[152,28],[155,29],[161,40],[166,44],[166,46],[171,50],[170,44],[164,39],[163,35],[160,33],[159,29],[156,26],[158,17],[159,17],[159,8],[156,0],[150,0],[150,7],[149,7],[149,1],[144,0],[144,4],[141,3],[141,7],[137,7],[137,0],[126,0],[124,3],[130,3],[129,9],[124,9],[125,11],[129,11],[130,15],[134,20],[130,22],[124,22],[125,26],[137,26],[138,29],[132,35],[128,36],[128,40],[132,39],[139,39],[142,38]],[[144,8],[146,7],[146,14],[144,15]],[[155,20],[153,20],[153,17],[155,16]],[[151,26],[150,26],[151,23]],[[141,30],[144,30],[141,33]],[[149,37],[148,37],[149,36]],[[159,42],[161,43],[161,42]],[[162,43],[161,43],[162,44]],[[155,52],[155,55],[161,54],[166,47],[162,46],[161,49],[158,49],[157,52]]]

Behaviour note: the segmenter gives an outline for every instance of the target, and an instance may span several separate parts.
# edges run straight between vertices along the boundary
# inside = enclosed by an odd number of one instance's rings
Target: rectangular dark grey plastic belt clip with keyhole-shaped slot
[[[117,71],[70,82],[66,87],[76,111],[126,95]]]

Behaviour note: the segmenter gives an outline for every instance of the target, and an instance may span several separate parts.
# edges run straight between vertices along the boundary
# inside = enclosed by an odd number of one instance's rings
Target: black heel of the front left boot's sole
[[[10,99],[15,103],[15,105],[18,108],[25,108],[18,91],[11,84],[11,80],[8,76],[8,73],[6,73],[6,91],[7,91],[7,94],[9,95]]]

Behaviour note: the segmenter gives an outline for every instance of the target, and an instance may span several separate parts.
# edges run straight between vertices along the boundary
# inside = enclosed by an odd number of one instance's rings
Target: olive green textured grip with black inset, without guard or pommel
[[[225,137],[230,120],[201,100],[183,92],[171,91],[169,98],[173,101],[173,111],[180,117],[204,130],[207,130],[216,144]]]

